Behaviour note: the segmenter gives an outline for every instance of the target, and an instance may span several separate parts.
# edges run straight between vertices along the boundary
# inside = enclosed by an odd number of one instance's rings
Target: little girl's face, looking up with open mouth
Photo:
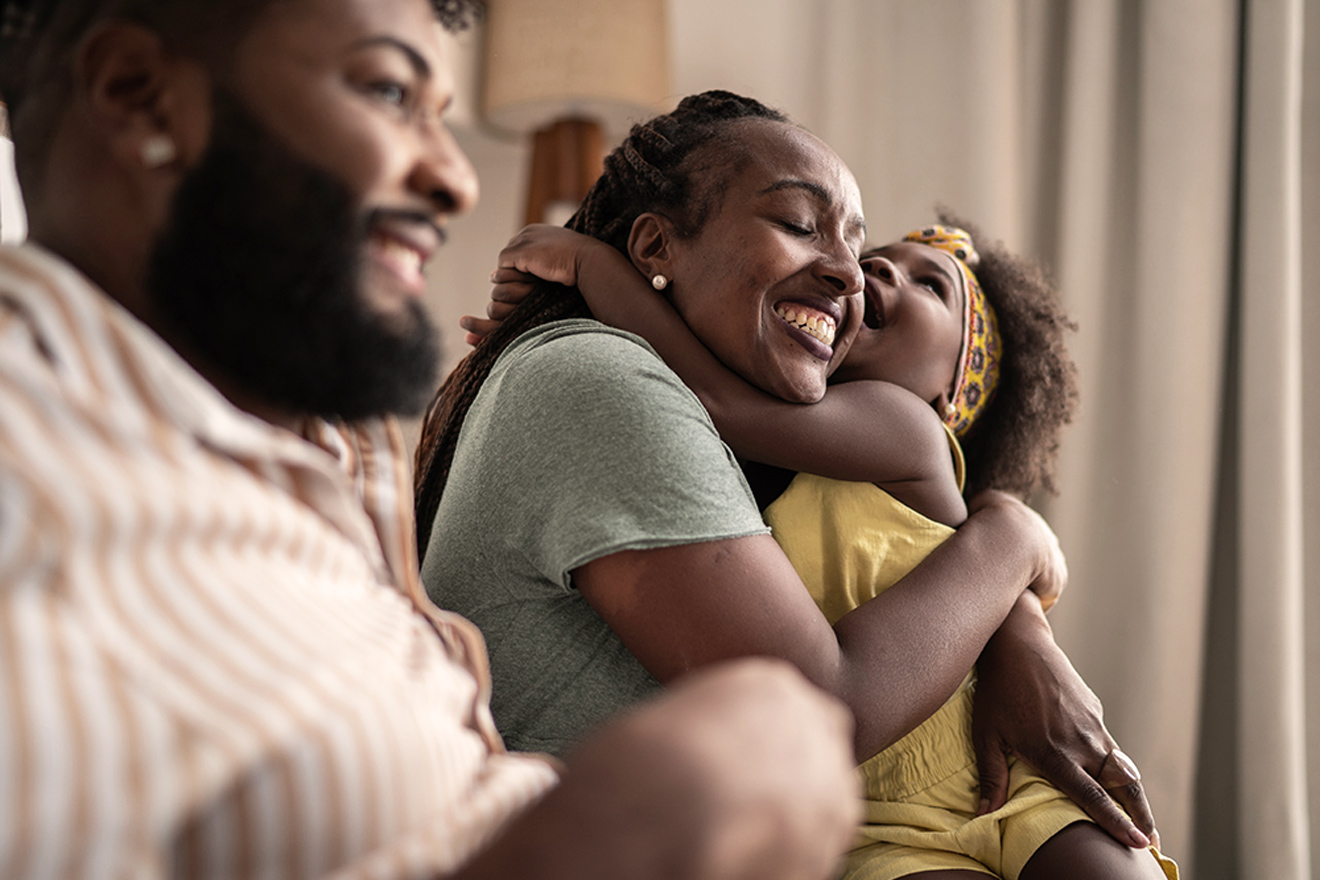
[[[916,241],[862,256],[866,311],[836,381],[879,379],[937,402],[953,392],[962,354],[962,273],[953,257]]]

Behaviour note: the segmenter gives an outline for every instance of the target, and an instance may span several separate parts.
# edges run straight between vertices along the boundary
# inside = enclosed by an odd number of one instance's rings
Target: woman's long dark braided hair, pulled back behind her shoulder
[[[623,253],[634,220],[648,211],[667,216],[678,237],[698,234],[722,183],[746,156],[744,148],[727,137],[730,124],[744,119],[788,121],[751,98],[708,91],[685,98],[671,113],[634,125],[623,144],[605,158],[605,172],[565,226]],[[589,317],[591,311],[577,289],[539,282],[441,385],[426,410],[417,446],[418,554],[426,553],[463,420],[500,352],[532,327]]]

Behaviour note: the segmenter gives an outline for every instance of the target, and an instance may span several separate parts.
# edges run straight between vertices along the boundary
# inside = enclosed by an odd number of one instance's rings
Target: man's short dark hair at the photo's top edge
[[[73,87],[73,54],[102,21],[150,28],[178,50],[223,65],[273,0],[0,0],[0,102],[7,104],[20,181],[44,162]],[[430,0],[437,20],[462,30],[483,0]],[[26,179],[25,179],[26,178]]]

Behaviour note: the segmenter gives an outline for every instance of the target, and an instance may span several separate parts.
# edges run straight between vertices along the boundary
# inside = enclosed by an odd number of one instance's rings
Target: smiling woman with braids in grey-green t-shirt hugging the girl
[[[755,102],[708,92],[635,127],[570,227],[665,288],[721,363],[779,400],[820,400],[861,325],[857,185]],[[814,332],[785,307],[810,311]],[[418,449],[424,579],[486,631],[511,744],[562,752],[685,672],[771,654],[850,705],[866,760],[978,664],[991,806],[1011,751],[1125,843],[1148,844],[1140,784],[1044,621],[1065,575],[1030,508],[977,496],[952,537],[830,625],[700,401],[640,339],[589,315],[576,290],[537,285],[446,381]],[[1065,834],[1110,864],[1129,858],[1092,831]],[[1053,844],[1023,876],[1056,873]]]

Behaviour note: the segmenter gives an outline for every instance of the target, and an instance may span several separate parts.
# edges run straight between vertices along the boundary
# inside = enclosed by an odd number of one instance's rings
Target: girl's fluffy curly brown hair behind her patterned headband
[[[940,222],[966,230],[977,243],[977,280],[999,321],[999,387],[966,437],[966,491],[995,488],[1028,497],[1055,492],[1059,437],[1077,409],[1077,367],[1068,355],[1068,319],[1044,269],[989,243],[981,231],[948,210]],[[982,243],[986,241],[986,243]]]

